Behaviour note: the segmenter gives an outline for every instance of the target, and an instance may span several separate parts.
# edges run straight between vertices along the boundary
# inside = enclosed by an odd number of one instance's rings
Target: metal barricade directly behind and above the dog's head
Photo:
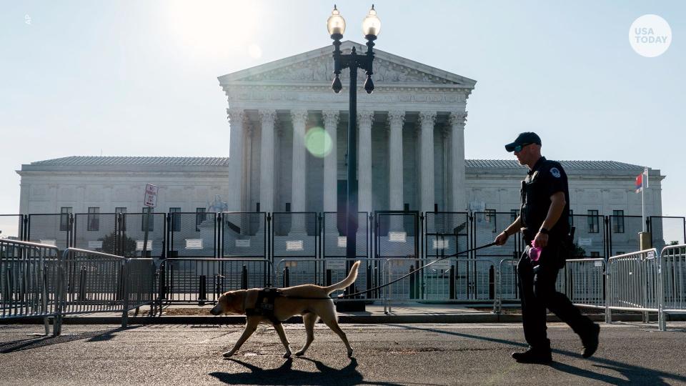
[[[161,301],[204,305],[234,289],[269,287],[273,265],[268,259],[165,259]]]

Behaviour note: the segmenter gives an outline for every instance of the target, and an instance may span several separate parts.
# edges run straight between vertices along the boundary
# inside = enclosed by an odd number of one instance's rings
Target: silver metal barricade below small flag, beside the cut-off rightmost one
[[[620,254],[607,260],[605,291],[607,322],[612,322],[612,310],[648,312],[660,310],[660,256],[655,248]]]

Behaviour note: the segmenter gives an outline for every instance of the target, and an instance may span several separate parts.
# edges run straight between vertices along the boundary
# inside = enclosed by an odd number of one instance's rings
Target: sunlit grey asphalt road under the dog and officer
[[[301,325],[285,325],[295,352]],[[318,324],[305,357],[284,360],[271,327],[260,327],[224,360],[242,326],[147,325],[126,329],[64,325],[61,337],[37,337],[41,326],[0,326],[0,384],[156,385],[686,385],[686,323],[602,325],[590,360],[566,325],[552,323],[552,365],[510,359],[522,350],[517,324],[342,325],[354,348]]]

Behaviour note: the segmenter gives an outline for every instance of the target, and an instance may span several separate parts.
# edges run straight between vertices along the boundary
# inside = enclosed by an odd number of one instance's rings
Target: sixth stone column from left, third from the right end
[[[388,112],[388,206],[390,210],[402,210],[402,124],[405,112]],[[402,217],[391,216],[391,230],[402,227]]]

